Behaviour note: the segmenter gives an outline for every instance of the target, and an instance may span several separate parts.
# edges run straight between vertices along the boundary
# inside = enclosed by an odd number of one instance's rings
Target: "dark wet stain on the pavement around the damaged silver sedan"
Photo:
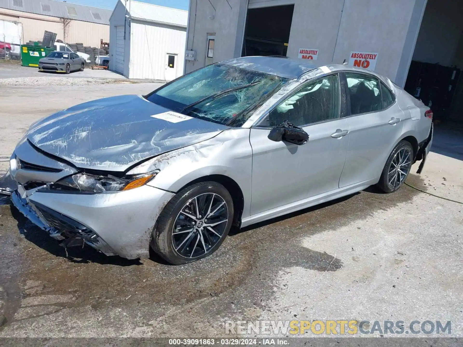
[[[410,175],[408,181],[419,185],[422,180]],[[224,312],[244,312],[249,302],[258,308],[274,295],[274,282],[280,271],[300,266],[324,272],[343,266],[342,259],[300,246],[303,237],[369,217],[375,211],[410,201],[417,194],[422,193],[408,186],[393,194],[370,187],[287,216],[234,229],[215,254],[183,266],[170,266],[155,255],[140,260],[107,257],[88,246],[68,248],[66,254],[64,248],[28,223],[13,206],[0,206],[0,223],[6,225],[0,231],[2,251],[13,252],[9,257],[15,263],[10,264],[12,270],[0,265],[0,272],[15,273],[3,284],[9,285],[13,294],[6,298],[5,307],[10,307],[8,315],[13,318],[20,304],[15,297],[71,294],[73,301],[50,304],[89,307],[99,312],[124,307],[135,312],[146,310],[147,305],[174,305],[185,312],[189,310],[192,317],[205,314],[206,310],[207,315],[219,316]],[[25,238],[19,236],[18,229],[24,229]],[[12,245],[16,239],[17,247]],[[21,289],[26,281],[40,285],[27,293]],[[246,302],[242,302],[243,297]],[[233,304],[224,304],[224,300]],[[18,319],[34,316],[37,313]]]

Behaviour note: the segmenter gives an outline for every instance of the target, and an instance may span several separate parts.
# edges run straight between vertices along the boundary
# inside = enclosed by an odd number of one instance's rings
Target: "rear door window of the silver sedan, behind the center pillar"
[[[350,93],[350,114],[375,112],[382,109],[379,81],[367,74],[346,72]]]

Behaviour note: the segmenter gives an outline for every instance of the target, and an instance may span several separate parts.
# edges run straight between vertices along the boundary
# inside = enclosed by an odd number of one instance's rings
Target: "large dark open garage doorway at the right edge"
[[[427,0],[404,89],[435,121],[463,123],[463,1]]]

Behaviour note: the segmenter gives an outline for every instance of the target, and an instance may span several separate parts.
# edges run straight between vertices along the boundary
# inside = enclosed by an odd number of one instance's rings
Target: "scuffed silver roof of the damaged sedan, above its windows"
[[[229,59],[221,64],[232,65],[238,68],[247,68],[266,74],[275,74],[280,77],[296,79],[307,72],[326,66],[330,71],[356,71],[375,75],[385,81],[385,77],[363,68],[353,68],[346,64],[322,64],[307,62],[302,59],[287,58],[284,56],[244,56],[241,58]]]

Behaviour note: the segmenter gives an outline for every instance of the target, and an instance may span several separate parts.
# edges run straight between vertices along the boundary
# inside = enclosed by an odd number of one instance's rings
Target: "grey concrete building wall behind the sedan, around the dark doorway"
[[[426,0],[250,0],[249,6],[294,4],[288,56],[300,48],[318,49],[317,63],[342,63],[350,51],[379,53],[375,71],[403,85]],[[187,50],[204,66],[207,33],[216,33],[214,62],[241,55],[246,0],[191,0]],[[343,9],[344,7],[344,9]]]

